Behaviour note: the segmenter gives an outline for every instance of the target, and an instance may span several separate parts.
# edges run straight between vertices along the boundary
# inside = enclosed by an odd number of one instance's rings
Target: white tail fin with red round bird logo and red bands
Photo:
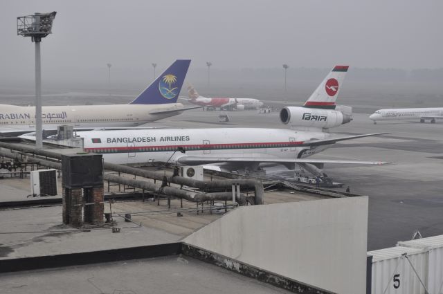
[[[312,93],[303,107],[335,109],[338,92],[341,89],[343,80],[349,66],[337,65],[321,82],[320,86]]]

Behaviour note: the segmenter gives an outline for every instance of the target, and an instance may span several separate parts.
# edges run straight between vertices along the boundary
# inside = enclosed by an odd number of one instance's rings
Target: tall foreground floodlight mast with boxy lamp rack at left
[[[42,131],[42,68],[40,66],[40,42],[52,33],[57,12],[35,13],[17,17],[17,35],[31,37],[35,43],[35,147],[43,148]]]

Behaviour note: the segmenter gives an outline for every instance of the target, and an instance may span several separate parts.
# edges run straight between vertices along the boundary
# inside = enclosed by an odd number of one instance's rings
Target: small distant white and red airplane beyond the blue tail
[[[188,102],[206,107],[207,109],[257,109],[263,106],[263,102],[252,98],[206,98],[194,89],[188,86]]]

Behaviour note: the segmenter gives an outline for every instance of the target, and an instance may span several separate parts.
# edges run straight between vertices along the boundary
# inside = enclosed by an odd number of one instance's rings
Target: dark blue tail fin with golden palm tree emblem
[[[176,60],[129,104],[175,103],[188,72],[190,60]]]

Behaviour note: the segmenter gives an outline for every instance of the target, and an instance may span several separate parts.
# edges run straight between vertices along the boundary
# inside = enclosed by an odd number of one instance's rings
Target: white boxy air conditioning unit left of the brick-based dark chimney
[[[40,169],[31,171],[30,193],[33,196],[57,195],[57,170]]]

